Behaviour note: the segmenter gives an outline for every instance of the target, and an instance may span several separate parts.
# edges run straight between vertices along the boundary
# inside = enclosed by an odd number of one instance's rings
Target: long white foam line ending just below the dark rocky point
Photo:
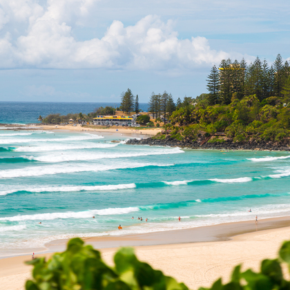
[[[51,155],[36,156],[33,159],[40,162],[66,162],[66,161],[89,161],[89,160],[100,160],[100,159],[115,159],[115,158],[128,158],[128,157],[141,157],[148,155],[166,155],[166,154],[178,154],[184,153],[179,148],[173,149],[159,149],[155,151],[130,151],[126,153],[119,152],[76,152],[76,153],[52,153]]]

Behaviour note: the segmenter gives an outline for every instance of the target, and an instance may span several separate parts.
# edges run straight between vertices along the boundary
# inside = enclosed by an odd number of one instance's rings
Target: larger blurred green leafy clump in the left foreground
[[[164,276],[162,271],[137,260],[133,249],[122,248],[115,254],[115,267],[109,267],[99,251],[75,238],[63,253],[48,262],[39,258],[32,264],[32,280],[26,290],[186,290],[184,284]]]

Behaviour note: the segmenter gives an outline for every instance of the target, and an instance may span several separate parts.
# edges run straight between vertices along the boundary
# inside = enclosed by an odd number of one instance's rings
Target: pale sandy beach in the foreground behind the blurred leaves
[[[132,245],[150,244],[150,240],[154,243],[156,240],[164,243],[164,240],[175,242],[178,239],[184,239],[184,242],[176,244],[155,244],[134,248],[140,260],[184,282],[190,289],[198,289],[201,286],[209,287],[219,277],[222,277],[224,281],[228,280],[236,264],[242,263],[242,269],[252,268],[258,271],[260,261],[264,258],[275,258],[281,243],[289,239],[289,224],[290,218],[277,218],[260,220],[257,226],[254,222],[239,222],[180,230],[178,234],[177,231],[167,231],[154,233],[154,235],[146,234],[147,237],[146,235],[131,235],[107,238],[107,240],[106,238],[103,240],[88,238],[86,243],[101,246],[102,242],[106,242],[110,246],[108,243],[110,241],[113,246],[117,246],[116,242],[122,245]],[[280,228],[277,229],[277,227]],[[173,236],[175,240],[168,240]],[[199,239],[216,241],[186,242],[186,240]],[[50,244],[50,251],[54,247],[59,250],[58,242]],[[64,247],[63,243],[62,247]],[[113,264],[113,254],[116,248],[106,247],[100,251],[104,260],[108,264]],[[49,258],[52,253],[37,256],[43,255]],[[23,285],[30,277],[31,267],[23,262],[30,259],[30,255],[23,255],[0,260],[0,290],[24,289]]]

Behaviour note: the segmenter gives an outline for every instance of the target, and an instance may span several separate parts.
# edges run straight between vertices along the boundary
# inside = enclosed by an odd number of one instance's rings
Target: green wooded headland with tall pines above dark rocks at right
[[[282,142],[290,133],[290,67],[280,55],[271,67],[257,57],[253,64],[222,60],[207,79],[209,93],[177,100],[164,132],[196,141],[224,133],[233,142]],[[210,142],[224,142],[213,138]]]

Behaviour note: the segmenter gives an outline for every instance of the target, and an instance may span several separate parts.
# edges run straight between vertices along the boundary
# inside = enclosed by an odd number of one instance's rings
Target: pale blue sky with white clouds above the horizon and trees
[[[0,0],[0,101],[206,93],[222,59],[290,59],[287,0]]]

